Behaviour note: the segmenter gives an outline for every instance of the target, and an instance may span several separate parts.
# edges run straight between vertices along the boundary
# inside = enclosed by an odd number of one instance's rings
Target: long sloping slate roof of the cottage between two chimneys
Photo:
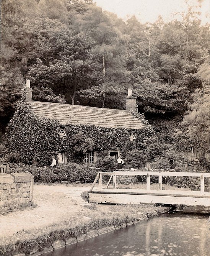
[[[141,130],[145,125],[128,110],[86,107],[51,102],[32,101],[34,113],[39,117],[57,119],[61,125],[96,125]]]

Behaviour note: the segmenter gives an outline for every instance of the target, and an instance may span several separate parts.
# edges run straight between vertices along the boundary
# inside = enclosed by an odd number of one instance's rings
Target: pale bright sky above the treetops
[[[187,11],[186,0],[93,0],[103,10],[116,13],[123,20],[135,15],[141,23],[153,23],[161,15],[164,21],[181,20],[182,11]],[[197,0],[187,0],[190,6]],[[200,19],[204,25],[210,22],[210,0],[203,0]],[[206,16],[208,15],[208,16]]]

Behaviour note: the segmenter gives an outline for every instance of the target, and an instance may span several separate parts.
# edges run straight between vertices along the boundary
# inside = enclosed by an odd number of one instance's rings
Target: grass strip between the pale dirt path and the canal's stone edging
[[[13,236],[0,238],[0,255],[10,256],[18,253],[27,255],[37,248],[42,251],[42,248],[51,246],[57,240],[67,241],[69,238],[77,238],[88,231],[99,230],[106,226],[122,226],[139,218],[146,218],[146,215],[154,216],[166,212],[168,209],[147,204],[91,204],[79,210],[76,217],[70,217],[60,223],[29,231],[22,230]]]

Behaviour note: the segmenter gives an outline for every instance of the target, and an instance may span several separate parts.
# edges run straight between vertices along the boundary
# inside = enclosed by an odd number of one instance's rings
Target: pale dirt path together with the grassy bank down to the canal
[[[36,256],[45,250],[65,246],[72,239],[84,240],[86,234],[91,235],[88,232],[93,231],[93,234],[96,230],[100,234],[107,231],[107,227],[117,229],[168,210],[154,205],[88,204],[80,197],[81,192],[88,189],[84,186],[57,184],[34,188],[36,208],[2,216],[0,222],[7,225],[0,231],[0,255]],[[5,236],[6,230],[11,234],[11,228],[13,235]]]

